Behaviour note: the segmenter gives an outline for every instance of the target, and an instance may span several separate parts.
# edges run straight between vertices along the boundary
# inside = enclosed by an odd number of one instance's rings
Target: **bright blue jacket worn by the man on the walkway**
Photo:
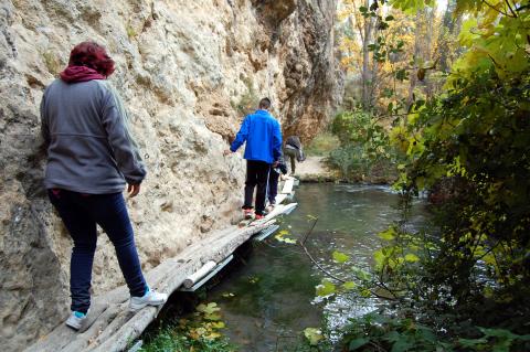
[[[230,150],[236,151],[245,141],[246,160],[273,163],[282,156],[279,124],[266,110],[256,110],[245,117]]]

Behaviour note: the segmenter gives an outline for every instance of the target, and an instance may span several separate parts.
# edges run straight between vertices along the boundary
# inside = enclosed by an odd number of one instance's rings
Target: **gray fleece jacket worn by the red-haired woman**
[[[121,99],[106,81],[55,79],[42,97],[41,128],[46,189],[117,193],[146,177]]]

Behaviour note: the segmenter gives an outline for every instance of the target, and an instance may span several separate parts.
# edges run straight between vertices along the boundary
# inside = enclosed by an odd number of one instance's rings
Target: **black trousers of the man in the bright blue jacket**
[[[245,204],[243,209],[253,209],[252,198],[256,191],[256,214],[263,215],[265,211],[265,196],[267,194],[268,171],[271,164],[265,161],[246,160]]]

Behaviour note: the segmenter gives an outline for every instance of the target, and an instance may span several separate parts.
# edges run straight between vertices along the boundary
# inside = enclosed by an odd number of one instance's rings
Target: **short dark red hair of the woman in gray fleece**
[[[70,53],[68,66],[86,66],[108,77],[113,74],[114,60],[105,47],[95,42],[83,42],[74,46]]]

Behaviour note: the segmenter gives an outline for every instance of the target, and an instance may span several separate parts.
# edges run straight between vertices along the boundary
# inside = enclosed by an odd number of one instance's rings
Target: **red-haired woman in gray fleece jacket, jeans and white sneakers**
[[[72,314],[66,326],[78,330],[91,306],[91,280],[99,225],[110,238],[130,291],[129,309],[166,302],[141,273],[132,226],[121,194],[140,191],[146,177],[127,129],[118,94],[106,82],[114,61],[94,42],[76,45],[68,66],[45,89],[41,127],[47,146],[44,185],[74,242],[70,289]]]

